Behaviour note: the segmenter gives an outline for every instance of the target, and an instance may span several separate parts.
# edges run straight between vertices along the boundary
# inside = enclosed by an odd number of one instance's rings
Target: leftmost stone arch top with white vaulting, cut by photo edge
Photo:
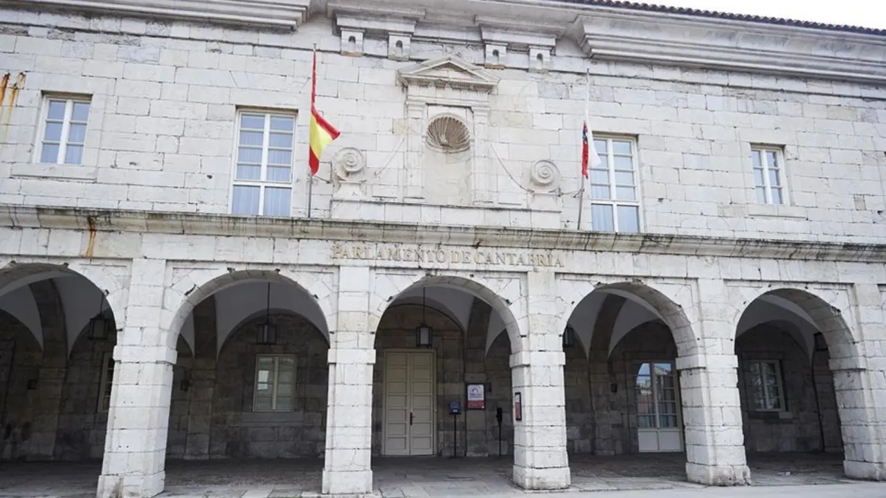
[[[52,280],[63,307],[66,351],[70,354],[74,342],[94,316],[110,313],[112,323],[125,320],[127,276],[115,277],[108,269],[100,262],[10,261],[0,268],[0,302],[7,300],[8,306],[17,305],[10,314],[27,326],[43,348],[43,323],[35,298],[23,290],[30,284]],[[122,269],[128,273],[128,268]],[[85,306],[88,300],[93,303],[92,307]]]

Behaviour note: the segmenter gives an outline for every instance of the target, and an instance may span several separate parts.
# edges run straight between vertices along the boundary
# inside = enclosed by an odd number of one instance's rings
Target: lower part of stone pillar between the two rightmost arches
[[[737,357],[684,356],[677,358],[677,370],[683,401],[687,479],[708,486],[749,484]]]

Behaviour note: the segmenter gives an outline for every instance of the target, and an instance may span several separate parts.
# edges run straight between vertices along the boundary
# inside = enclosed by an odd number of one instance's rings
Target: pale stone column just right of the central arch
[[[553,273],[530,272],[527,284],[529,330],[523,346],[514,348],[520,352],[510,357],[511,389],[520,393],[523,412],[523,419],[514,421],[514,482],[524,489],[563,489],[571,475],[556,281]]]

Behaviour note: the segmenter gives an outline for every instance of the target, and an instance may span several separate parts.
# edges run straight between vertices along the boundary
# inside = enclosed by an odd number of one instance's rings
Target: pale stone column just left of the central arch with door
[[[338,323],[330,331],[323,494],[372,493],[372,368],[369,268],[341,267]]]

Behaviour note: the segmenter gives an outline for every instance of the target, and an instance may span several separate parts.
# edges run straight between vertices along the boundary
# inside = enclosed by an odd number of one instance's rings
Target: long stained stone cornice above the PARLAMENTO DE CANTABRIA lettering
[[[727,237],[611,234],[577,230],[515,230],[391,222],[148,213],[0,206],[0,228],[97,230],[170,235],[284,237],[389,244],[470,245],[554,251],[607,251],[783,260],[886,262],[886,245],[835,244]]]

